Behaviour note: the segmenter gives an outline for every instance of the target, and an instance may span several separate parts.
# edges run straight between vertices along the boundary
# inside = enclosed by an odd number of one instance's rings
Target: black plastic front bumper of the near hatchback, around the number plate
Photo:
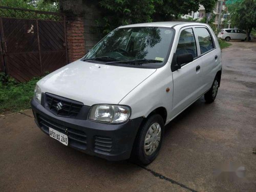
[[[129,159],[143,117],[123,124],[106,124],[56,116],[32,99],[37,126],[49,135],[49,127],[68,135],[69,146],[89,155],[111,161]],[[86,117],[87,118],[87,117]]]

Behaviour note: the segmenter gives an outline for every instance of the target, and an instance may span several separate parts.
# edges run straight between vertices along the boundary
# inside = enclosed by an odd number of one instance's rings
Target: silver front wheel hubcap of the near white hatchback
[[[147,130],[144,140],[144,152],[147,156],[152,155],[161,140],[161,126],[159,123],[153,123]]]

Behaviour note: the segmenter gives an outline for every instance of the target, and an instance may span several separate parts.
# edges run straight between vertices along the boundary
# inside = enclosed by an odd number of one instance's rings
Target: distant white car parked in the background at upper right
[[[230,40],[246,40],[246,32],[240,29],[221,29],[221,32],[218,34],[218,37],[225,39],[226,41]],[[250,35],[250,39],[253,37]]]

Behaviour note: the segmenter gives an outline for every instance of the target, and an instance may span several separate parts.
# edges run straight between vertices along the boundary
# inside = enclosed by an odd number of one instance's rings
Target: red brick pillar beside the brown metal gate
[[[67,45],[69,63],[86,54],[84,26],[81,17],[67,17]]]

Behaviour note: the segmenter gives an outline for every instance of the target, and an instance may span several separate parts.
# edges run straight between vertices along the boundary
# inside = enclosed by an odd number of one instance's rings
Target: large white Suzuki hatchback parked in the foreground
[[[220,46],[206,24],[122,26],[39,80],[31,105],[38,127],[62,144],[148,164],[165,125],[202,95],[215,100],[221,71]]]

